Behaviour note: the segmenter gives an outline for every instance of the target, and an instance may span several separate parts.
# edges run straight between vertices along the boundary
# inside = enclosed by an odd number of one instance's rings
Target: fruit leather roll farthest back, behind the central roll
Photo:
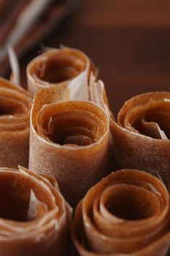
[[[27,88],[35,94],[40,88],[59,85],[76,78],[77,75],[94,70],[93,63],[82,51],[62,47],[47,49],[27,65]]]

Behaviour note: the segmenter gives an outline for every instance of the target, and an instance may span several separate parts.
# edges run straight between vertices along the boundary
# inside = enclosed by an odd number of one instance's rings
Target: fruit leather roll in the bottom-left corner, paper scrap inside
[[[54,178],[0,168],[0,255],[69,255],[71,210]]]

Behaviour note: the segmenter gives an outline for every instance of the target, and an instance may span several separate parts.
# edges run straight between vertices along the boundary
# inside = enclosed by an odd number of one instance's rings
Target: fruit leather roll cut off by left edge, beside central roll
[[[27,167],[31,106],[27,91],[0,78],[0,167]]]

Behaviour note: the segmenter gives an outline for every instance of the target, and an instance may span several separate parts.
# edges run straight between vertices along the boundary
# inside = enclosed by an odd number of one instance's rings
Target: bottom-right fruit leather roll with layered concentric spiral
[[[120,170],[77,206],[72,236],[80,256],[163,256],[170,244],[169,193],[150,173]]]

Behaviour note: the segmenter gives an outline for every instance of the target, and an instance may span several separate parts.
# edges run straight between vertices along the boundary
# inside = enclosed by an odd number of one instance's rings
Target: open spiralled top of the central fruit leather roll
[[[38,133],[43,139],[60,145],[93,144],[106,133],[107,125],[104,112],[90,102],[63,102],[47,106],[38,116]]]

